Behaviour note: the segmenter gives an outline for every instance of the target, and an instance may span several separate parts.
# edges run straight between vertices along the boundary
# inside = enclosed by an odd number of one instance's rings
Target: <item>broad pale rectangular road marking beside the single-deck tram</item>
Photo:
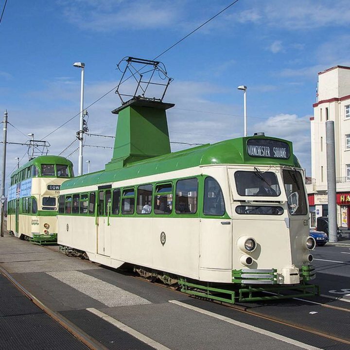
[[[80,271],[58,271],[47,274],[109,307],[151,304],[136,294]]]

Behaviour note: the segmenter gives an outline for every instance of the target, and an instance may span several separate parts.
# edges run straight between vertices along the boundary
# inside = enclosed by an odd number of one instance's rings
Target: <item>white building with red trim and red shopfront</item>
[[[334,122],[338,226],[350,227],[350,67],[318,73],[317,102],[311,121],[312,183],[307,185],[311,226],[328,216],[326,121]]]

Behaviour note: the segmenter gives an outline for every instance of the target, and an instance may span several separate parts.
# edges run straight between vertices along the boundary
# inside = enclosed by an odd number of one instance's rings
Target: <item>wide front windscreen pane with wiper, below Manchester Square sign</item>
[[[241,196],[277,197],[280,195],[280,186],[277,176],[273,172],[236,171],[237,192]]]

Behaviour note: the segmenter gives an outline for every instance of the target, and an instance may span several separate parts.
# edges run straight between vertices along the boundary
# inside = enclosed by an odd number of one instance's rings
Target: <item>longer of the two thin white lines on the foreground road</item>
[[[253,332],[256,332],[256,333],[260,333],[260,334],[263,334],[263,335],[266,335],[266,336],[269,336],[269,337],[272,337],[274,339],[278,339],[280,341],[283,341],[285,343],[288,343],[288,344],[292,344],[292,345],[295,345],[295,346],[298,346],[302,349],[307,349],[307,350],[320,350],[319,348],[315,348],[311,345],[308,345],[308,344],[304,344],[304,343],[301,343],[301,342],[298,342],[297,340],[294,340],[294,339],[290,339],[290,338],[287,338],[283,335],[280,335],[280,334],[276,334],[276,333],[272,333],[272,332],[269,332],[269,331],[265,331],[261,328],[258,328],[258,327],[254,327],[254,326],[251,326],[251,325],[248,325],[246,323],[242,323],[242,322],[239,322],[239,321],[235,321],[231,318],[228,318],[226,316],[223,316],[223,315],[219,315],[219,314],[215,314],[215,313],[212,313],[210,311],[207,311],[207,310],[203,310],[203,309],[200,309],[196,306],[192,306],[192,305],[188,305],[188,304],[185,304],[185,303],[182,303],[181,301],[177,301],[177,300],[169,300],[169,302],[173,303],[173,304],[176,304],[176,305],[179,305],[179,306],[182,306],[182,307],[185,307],[187,309],[191,309],[193,311],[196,311],[198,313],[201,313],[201,314],[204,314],[204,315],[208,315],[208,316],[211,316],[211,317],[215,317],[217,319],[220,319],[222,321],[225,321],[227,323],[231,323],[235,326],[239,326],[239,327],[242,327],[242,328],[245,328],[249,331],[253,331]]]

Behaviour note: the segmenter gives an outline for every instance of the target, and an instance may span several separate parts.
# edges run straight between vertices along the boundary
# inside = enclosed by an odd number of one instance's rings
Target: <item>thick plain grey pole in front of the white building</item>
[[[335,185],[335,146],[334,122],[326,122],[327,151],[327,192],[328,192],[328,234],[330,242],[337,242],[336,185]]]

